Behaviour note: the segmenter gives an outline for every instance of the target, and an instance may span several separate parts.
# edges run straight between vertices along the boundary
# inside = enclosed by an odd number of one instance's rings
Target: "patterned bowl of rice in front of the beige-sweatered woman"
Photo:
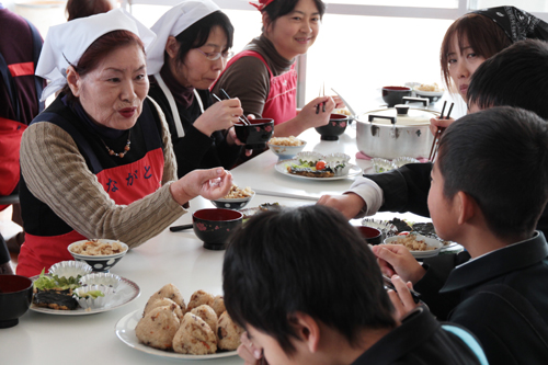
[[[94,272],[109,272],[127,253],[126,243],[116,240],[92,239],[70,243],[68,251],[76,261],[85,262]]]

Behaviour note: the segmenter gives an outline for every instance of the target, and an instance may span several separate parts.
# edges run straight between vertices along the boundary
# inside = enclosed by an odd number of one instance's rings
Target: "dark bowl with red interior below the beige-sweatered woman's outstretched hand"
[[[232,209],[199,209],[192,215],[196,236],[208,250],[225,250],[232,231],[241,226],[243,214]]]

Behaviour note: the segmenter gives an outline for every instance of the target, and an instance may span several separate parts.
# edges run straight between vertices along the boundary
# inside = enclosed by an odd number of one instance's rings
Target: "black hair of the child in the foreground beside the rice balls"
[[[353,345],[359,330],[396,327],[375,255],[347,219],[322,205],[252,217],[231,238],[222,276],[230,317],[273,337],[287,354],[298,339],[297,311]]]

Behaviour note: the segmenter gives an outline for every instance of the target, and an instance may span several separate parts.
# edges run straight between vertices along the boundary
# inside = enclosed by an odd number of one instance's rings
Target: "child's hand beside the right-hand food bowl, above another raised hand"
[[[372,247],[383,274],[399,275],[406,282],[416,284],[426,273],[409,250],[401,244],[377,244]]]

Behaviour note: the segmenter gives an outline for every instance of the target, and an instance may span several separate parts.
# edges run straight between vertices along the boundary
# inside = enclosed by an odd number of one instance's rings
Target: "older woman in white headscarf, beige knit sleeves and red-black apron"
[[[67,246],[85,238],[135,248],[193,197],[228,193],[222,168],[175,180],[163,113],[147,99],[144,44],[153,38],[121,9],[49,30],[36,72],[52,81],[43,98],[64,89],[21,144],[26,241],[18,274],[70,260]]]

